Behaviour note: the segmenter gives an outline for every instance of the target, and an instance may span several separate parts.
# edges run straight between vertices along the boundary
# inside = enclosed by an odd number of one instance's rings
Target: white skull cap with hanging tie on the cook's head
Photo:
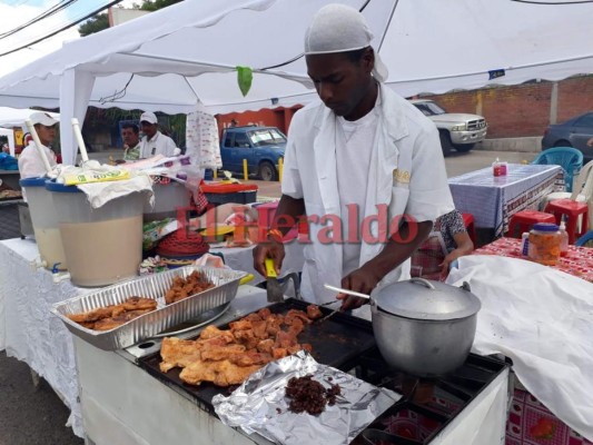
[[[317,11],[305,32],[305,56],[355,51],[370,46],[373,37],[365,17],[356,9],[327,4]],[[388,73],[375,51],[373,77],[383,82]]]

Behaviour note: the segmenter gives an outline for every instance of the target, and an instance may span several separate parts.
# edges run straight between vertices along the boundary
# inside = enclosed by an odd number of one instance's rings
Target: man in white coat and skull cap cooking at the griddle
[[[382,83],[387,70],[372,39],[364,17],[343,4],[322,8],[305,34],[320,100],[290,123],[276,215],[309,222],[302,293],[312,303],[336,298],[324,284],[369,294],[409,278],[412,253],[454,208],[438,131]],[[289,225],[273,227],[254,249],[263,275],[266,257],[280,270]],[[365,303],[337,298],[343,309]]]

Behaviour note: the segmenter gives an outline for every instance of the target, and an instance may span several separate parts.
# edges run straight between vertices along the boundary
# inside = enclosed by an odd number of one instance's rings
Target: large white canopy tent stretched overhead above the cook
[[[336,0],[333,0],[334,2]],[[313,14],[332,0],[185,0],[66,43],[0,79],[0,105],[187,112],[241,111],[316,97],[299,55]],[[402,96],[560,80],[593,71],[593,3],[550,0],[342,0],[362,9]],[[556,1],[557,3],[557,1]],[[255,69],[244,98],[234,67]],[[276,67],[276,68],[270,68]],[[488,72],[504,69],[490,79]],[[132,76],[134,75],[134,76]],[[66,162],[76,140],[62,128]]]

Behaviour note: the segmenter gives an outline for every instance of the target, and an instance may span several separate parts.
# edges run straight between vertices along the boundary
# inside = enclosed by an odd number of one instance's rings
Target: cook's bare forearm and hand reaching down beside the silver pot
[[[412,224],[414,226],[411,227]],[[415,230],[413,230],[414,228]],[[428,237],[432,228],[432,221],[404,222],[396,236],[389,239],[385,248],[375,258],[342,279],[342,287],[367,295],[370,294],[383,277],[412,256],[414,250]],[[414,238],[409,239],[411,235],[414,235]],[[342,310],[353,309],[365,303],[362,298],[343,294],[338,295],[337,298],[344,300]]]

